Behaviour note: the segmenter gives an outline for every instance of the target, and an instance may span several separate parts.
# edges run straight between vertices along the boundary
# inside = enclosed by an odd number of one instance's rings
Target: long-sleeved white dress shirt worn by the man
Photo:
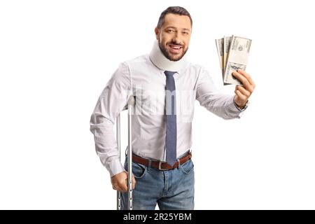
[[[124,171],[118,158],[113,125],[131,95],[136,99],[132,115],[133,153],[143,158],[165,161],[164,71],[169,66],[163,67],[163,62],[159,64],[156,55],[161,57],[161,52],[159,49],[157,52],[155,45],[150,55],[121,63],[102,91],[90,118],[90,131],[94,134],[97,155],[111,176]],[[171,62],[166,57],[165,61]],[[202,66],[178,62],[170,70],[176,70],[176,153],[180,158],[192,147],[192,121],[196,99],[201,106],[223,119],[240,118],[244,110],[236,106],[234,95],[218,91],[209,72]]]

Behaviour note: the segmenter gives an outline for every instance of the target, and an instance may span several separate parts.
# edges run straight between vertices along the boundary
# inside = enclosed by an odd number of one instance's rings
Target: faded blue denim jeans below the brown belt
[[[127,169],[127,158],[125,170]],[[134,210],[194,209],[195,174],[192,160],[176,169],[162,171],[132,162],[132,173],[136,179],[133,190]],[[122,209],[128,207],[128,193],[122,194]]]

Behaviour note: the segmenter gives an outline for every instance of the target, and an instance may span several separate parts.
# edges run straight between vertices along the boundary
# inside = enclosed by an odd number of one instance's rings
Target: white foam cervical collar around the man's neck
[[[157,66],[159,69],[165,70],[165,71],[179,71],[183,68],[185,68],[188,64],[188,62],[186,61],[186,54],[177,62],[173,62],[169,59],[167,59],[167,57],[165,57],[165,55],[163,55],[163,52],[160,49],[158,40],[156,40],[153,44],[153,48],[150,52],[150,59],[151,62]]]

